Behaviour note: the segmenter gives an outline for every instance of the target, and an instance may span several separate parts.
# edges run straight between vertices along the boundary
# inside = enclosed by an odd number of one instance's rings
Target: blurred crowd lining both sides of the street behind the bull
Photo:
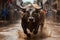
[[[19,18],[19,7],[23,2],[19,0],[17,3],[17,1],[18,0],[0,0],[0,20],[17,20]],[[59,19],[60,11],[57,11],[57,5],[51,7],[51,5],[46,2],[44,4],[44,11],[48,20],[52,19],[56,21],[56,19]]]

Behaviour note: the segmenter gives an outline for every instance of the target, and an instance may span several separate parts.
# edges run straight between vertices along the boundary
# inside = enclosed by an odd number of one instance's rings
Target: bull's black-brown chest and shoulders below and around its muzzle
[[[24,31],[26,30],[25,28],[28,28],[30,31],[33,31],[33,29],[35,29],[35,31],[36,31],[36,29],[38,29],[38,27],[39,27],[39,17],[36,14],[34,16],[35,16],[35,22],[32,22],[32,21],[28,22],[27,21],[28,20],[27,16],[26,17],[24,16],[22,18],[22,27],[23,27]]]

